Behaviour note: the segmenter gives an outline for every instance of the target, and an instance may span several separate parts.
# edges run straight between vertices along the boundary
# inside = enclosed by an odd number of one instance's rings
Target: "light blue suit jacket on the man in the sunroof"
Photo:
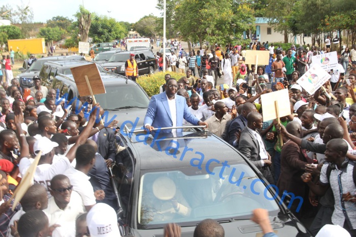
[[[183,118],[193,125],[198,125],[200,120],[190,113],[184,97],[176,95],[176,108],[177,127],[183,125]],[[151,97],[144,120],[144,126],[146,124],[149,124],[154,128],[173,127],[171,110],[168,105],[166,92]],[[177,132],[181,131],[182,129],[177,129]],[[161,132],[172,132],[172,130],[167,129],[162,130]]]

